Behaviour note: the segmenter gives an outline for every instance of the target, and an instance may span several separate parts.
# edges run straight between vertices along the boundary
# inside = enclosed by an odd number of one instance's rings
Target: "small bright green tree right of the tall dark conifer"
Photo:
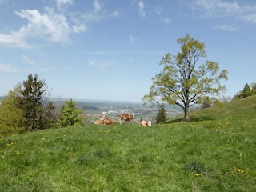
[[[77,109],[76,102],[73,102],[72,99],[66,101],[58,118],[57,127],[82,125],[81,114],[82,110]]]

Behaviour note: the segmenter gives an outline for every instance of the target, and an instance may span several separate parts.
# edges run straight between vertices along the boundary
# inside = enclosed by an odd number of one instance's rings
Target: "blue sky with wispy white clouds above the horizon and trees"
[[[0,95],[38,74],[57,98],[141,102],[186,34],[229,71],[224,95],[256,82],[254,0],[0,0],[0,23]]]

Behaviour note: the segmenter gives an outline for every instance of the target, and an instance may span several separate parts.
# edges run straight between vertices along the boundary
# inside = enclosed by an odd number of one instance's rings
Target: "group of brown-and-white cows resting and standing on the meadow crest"
[[[120,125],[123,125],[123,123],[130,124],[130,121],[134,118],[134,114],[120,114]],[[106,118],[103,116],[102,118],[98,119],[94,122],[94,125],[113,125],[114,121]],[[139,126],[152,126],[150,121],[142,121],[139,122]]]

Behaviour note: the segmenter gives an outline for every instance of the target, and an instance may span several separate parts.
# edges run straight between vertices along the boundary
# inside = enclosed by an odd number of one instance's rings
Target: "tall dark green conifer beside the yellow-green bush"
[[[38,74],[35,74],[34,77],[30,74],[28,79],[23,81],[24,87],[21,90],[20,104],[24,110],[28,130],[44,129],[42,94],[45,91],[43,89],[45,85],[44,80],[38,79]]]

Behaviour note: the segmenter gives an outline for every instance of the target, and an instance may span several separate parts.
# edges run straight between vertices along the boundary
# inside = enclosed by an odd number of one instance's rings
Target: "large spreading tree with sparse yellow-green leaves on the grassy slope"
[[[152,78],[150,92],[142,100],[153,105],[165,102],[180,106],[184,111],[183,120],[188,122],[190,106],[201,104],[206,98],[216,100],[215,97],[226,90],[221,80],[227,80],[227,70],[218,72],[218,63],[208,60],[199,66],[199,58],[206,58],[205,44],[190,38],[189,34],[177,42],[182,51],[162,58],[163,70]]]

